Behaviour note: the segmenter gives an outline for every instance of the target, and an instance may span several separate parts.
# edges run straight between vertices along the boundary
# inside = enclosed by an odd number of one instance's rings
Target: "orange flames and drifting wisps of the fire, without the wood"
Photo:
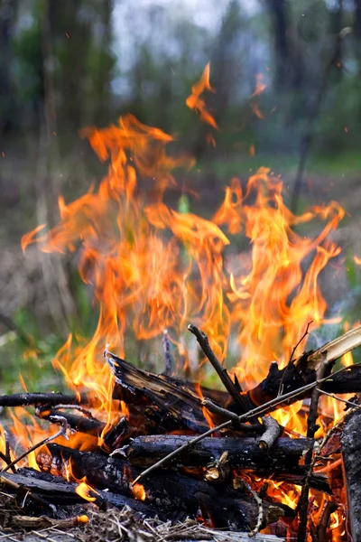
[[[251,98],[264,89],[259,76]],[[203,122],[218,128],[202,98],[205,90],[215,91],[209,65],[186,104]],[[263,117],[254,99],[251,107]],[[167,329],[174,356],[188,373],[197,360],[191,363],[194,349],[192,353],[184,332],[194,322],[208,334],[222,362],[226,363],[228,352],[235,356],[236,350],[233,370],[250,388],[265,377],[272,360],[282,367],[304,350],[301,342],[293,351],[309,322],[312,331],[335,322],[325,319],[327,303],[319,289],[319,275],[341,250],[331,240],[345,214],[337,202],[294,215],[283,200],[282,180],[260,168],[246,186],[232,179],[224,201],[206,220],[164,202],[164,192],[177,190],[176,170],[187,172],[194,165],[190,157],[169,152],[171,135],[143,125],[132,115],[103,129],[88,128],[82,135],[99,159],[108,163],[106,176],[98,188],[90,187],[76,201],[67,203],[60,196],[58,225],[51,230],[38,226],[23,236],[22,246],[36,242],[44,252],[78,251],[80,276],[94,289],[99,317],[92,339],[69,335],[53,363],[70,388],[78,393],[86,389],[96,397],[97,417],[106,422],[97,444],[104,445],[108,428],[128,416],[126,405],[119,408],[112,399],[113,378],[102,358],[105,344],[124,356],[134,339],[162,343]],[[150,195],[139,190],[138,179],[151,183]],[[306,224],[312,235],[301,233]],[[246,252],[239,251],[240,239],[249,245]],[[329,415],[335,402],[329,397],[322,400]],[[304,434],[301,406],[299,402],[276,415],[290,432]],[[338,407],[331,413],[334,419],[343,408]],[[16,420],[15,416],[15,432],[23,435]],[[212,425],[209,416],[208,423]],[[32,431],[42,433],[36,424]],[[87,449],[90,444],[84,439],[77,444],[70,440],[70,445]],[[281,484],[271,482],[274,495],[295,508],[297,489],[283,491]],[[95,500],[89,491],[87,482],[81,481],[79,494]],[[145,499],[141,484],[135,484],[133,491],[136,499]]]

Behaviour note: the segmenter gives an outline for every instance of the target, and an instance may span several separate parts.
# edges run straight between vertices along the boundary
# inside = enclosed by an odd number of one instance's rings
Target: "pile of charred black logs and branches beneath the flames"
[[[94,416],[97,405],[91,394],[23,393],[0,397],[1,406],[33,406],[36,416],[60,425],[55,435],[17,457],[11,439],[6,441],[0,481],[8,505],[3,508],[13,512],[2,513],[3,526],[70,528],[77,522],[88,522],[88,516],[84,519],[87,507],[88,513],[89,507],[93,514],[97,507],[110,510],[106,512],[110,515],[116,507],[126,517],[133,514],[134,522],[143,519],[143,526],[157,518],[157,528],[143,528],[159,540],[171,539],[169,533],[175,532],[171,525],[193,526],[192,539],[207,539],[209,528],[235,530],[250,537],[264,528],[266,534],[286,537],[288,529],[293,536],[298,532],[301,539],[301,529],[305,538],[310,520],[309,497],[313,490],[327,495],[328,500],[319,525],[311,528],[319,542],[328,539],[330,515],[340,503],[327,472],[329,462],[335,462],[339,456],[341,424],[334,425],[321,442],[315,439],[319,397],[360,391],[361,367],[335,370],[334,364],[341,355],[361,344],[361,326],[319,350],[305,352],[282,370],[273,362],[264,381],[249,390],[242,390],[218,362],[207,336],[193,325],[189,329],[227,391],[199,388],[166,372],[156,375],[137,369],[106,350],[104,356],[115,379],[113,400],[126,404],[128,409],[128,415],[116,425],[106,426]],[[170,369],[167,348],[165,365]],[[299,399],[304,400],[305,407],[308,403],[305,436],[284,432],[271,414]],[[346,469],[347,477],[352,479],[349,493],[356,491],[350,507],[356,507],[356,519],[359,467],[355,474],[352,453],[357,452],[358,443],[351,439],[350,444],[347,435],[355,434],[359,406],[352,401],[345,403],[351,412],[356,411],[355,419],[348,415],[348,433],[342,437],[345,450],[352,448]],[[350,424],[354,424],[353,429],[349,429]],[[73,437],[88,435],[96,444],[91,451],[84,452],[51,442],[69,433]],[[97,445],[100,440],[101,445]],[[39,471],[18,468],[32,451]],[[275,492],[269,491],[270,481],[301,486],[295,509],[275,499]],[[88,503],[85,508],[84,502]],[[118,519],[120,524],[122,517]],[[194,520],[206,530],[200,529],[197,534]],[[169,521],[169,533],[165,536],[161,533],[164,527],[159,526]],[[122,528],[126,533],[126,527]],[[358,519],[351,522],[351,528],[357,533],[353,539],[359,539]],[[186,529],[183,538],[187,536]]]

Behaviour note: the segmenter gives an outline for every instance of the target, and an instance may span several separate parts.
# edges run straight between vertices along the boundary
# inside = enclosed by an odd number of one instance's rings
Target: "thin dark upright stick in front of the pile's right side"
[[[326,357],[322,360],[317,373],[318,379],[322,379],[329,368],[329,363],[326,361]],[[307,437],[313,439],[313,444],[310,446],[310,450],[305,456],[305,467],[308,469],[305,483],[301,490],[300,500],[298,502],[299,509],[299,531],[297,534],[298,542],[304,542],[307,538],[307,518],[308,518],[308,505],[309,505],[309,492],[310,492],[310,477],[312,475],[313,467],[315,464],[315,458],[312,461],[312,454],[314,448],[314,438],[319,425],[316,424],[319,417],[319,388],[314,388],[310,397],[310,413],[307,418]]]

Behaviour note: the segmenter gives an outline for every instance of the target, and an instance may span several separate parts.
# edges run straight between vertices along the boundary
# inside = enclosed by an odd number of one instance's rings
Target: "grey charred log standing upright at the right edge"
[[[361,541],[361,411],[350,413],[341,435],[346,475],[348,522],[353,542]]]

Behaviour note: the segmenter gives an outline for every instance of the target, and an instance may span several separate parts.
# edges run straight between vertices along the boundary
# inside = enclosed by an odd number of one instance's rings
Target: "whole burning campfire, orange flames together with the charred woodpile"
[[[215,142],[207,91],[209,67],[187,106]],[[0,481],[16,510],[0,512],[3,524],[74,527],[114,507],[128,521],[126,505],[159,540],[180,536],[162,521],[191,525],[193,539],[212,528],[361,539],[351,354],[361,326],[306,350],[309,333],[340,322],[326,317],[319,274],[338,262],[344,210],[332,201],[292,214],[282,180],[261,168],[246,185],[232,179],[206,219],[166,203],[194,165],[171,154],[171,135],[131,115],[82,135],[106,177],[72,203],[60,197],[59,224],[22,244],[74,254],[97,330],[69,336],[53,361],[69,394],[0,397],[12,408]]]

